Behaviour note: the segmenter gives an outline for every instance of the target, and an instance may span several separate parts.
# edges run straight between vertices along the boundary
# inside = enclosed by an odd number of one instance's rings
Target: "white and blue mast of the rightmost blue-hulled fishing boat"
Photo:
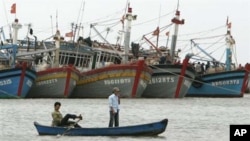
[[[227,23],[227,36],[226,36],[226,71],[231,70],[231,64],[232,64],[232,48],[235,44],[235,40],[233,39],[233,36],[231,35],[231,23]]]

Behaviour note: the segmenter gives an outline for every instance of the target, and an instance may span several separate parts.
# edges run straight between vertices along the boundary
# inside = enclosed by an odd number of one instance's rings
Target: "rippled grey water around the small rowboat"
[[[250,95],[243,98],[121,99],[120,126],[168,118],[154,137],[39,136],[33,122],[51,124],[53,104],[62,114],[82,114],[83,127],[107,127],[107,99],[0,99],[1,141],[229,141],[230,124],[250,124]]]

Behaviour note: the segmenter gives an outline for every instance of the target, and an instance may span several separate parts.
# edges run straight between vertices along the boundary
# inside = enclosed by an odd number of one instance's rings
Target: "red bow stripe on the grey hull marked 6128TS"
[[[186,72],[186,69],[187,69],[188,60],[189,60],[189,58],[185,58],[183,60],[181,74],[179,76],[179,80],[178,80],[178,83],[177,83],[177,88],[175,90],[175,98],[178,98],[179,95],[180,95],[181,85],[182,85],[183,78],[185,77],[185,72]]]

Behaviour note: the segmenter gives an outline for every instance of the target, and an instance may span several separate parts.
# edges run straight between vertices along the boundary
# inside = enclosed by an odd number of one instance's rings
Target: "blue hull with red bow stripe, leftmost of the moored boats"
[[[0,98],[24,98],[36,79],[30,69],[13,68],[0,71]]]

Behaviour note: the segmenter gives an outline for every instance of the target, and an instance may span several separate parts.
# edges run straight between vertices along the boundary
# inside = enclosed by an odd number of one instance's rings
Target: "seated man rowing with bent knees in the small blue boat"
[[[59,111],[61,107],[61,103],[60,102],[55,102],[54,104],[54,112],[52,112],[52,126],[71,126],[74,125],[74,127],[81,127],[80,125],[78,125],[76,122],[74,121],[69,121],[69,119],[76,119],[79,118],[79,120],[82,120],[82,116],[76,116],[74,114],[66,114],[64,117],[62,117],[61,112]]]

